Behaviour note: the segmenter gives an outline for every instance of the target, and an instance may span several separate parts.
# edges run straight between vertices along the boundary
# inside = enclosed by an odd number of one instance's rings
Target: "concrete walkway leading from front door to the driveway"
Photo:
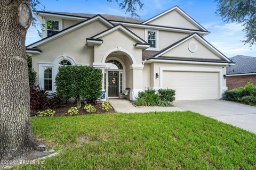
[[[145,113],[145,112],[175,112],[185,111],[179,107],[135,107],[130,101],[122,99],[108,99],[116,112],[121,113]]]

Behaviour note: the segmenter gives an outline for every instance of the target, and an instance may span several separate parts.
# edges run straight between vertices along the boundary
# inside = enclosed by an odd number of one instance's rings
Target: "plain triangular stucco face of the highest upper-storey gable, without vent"
[[[182,15],[180,15],[175,10],[173,10],[169,13],[166,13],[166,14],[160,16],[159,18],[157,18],[151,22],[148,22],[147,24],[199,30],[195,25],[190,23],[187,19],[185,19]]]

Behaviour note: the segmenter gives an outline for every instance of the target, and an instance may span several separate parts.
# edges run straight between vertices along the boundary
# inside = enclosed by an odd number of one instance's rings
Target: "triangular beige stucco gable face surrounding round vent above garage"
[[[188,49],[188,45],[191,42],[195,42],[197,44],[197,50],[194,53],[191,53]],[[207,58],[207,59],[217,59],[221,58],[211,52],[208,48],[206,48],[203,44],[201,44],[195,38],[190,38],[179,46],[171,49],[169,52],[166,52],[162,56],[171,56],[171,57],[189,57],[189,58]]]

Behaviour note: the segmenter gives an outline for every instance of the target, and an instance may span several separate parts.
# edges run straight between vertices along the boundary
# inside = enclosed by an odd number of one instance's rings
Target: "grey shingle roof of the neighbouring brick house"
[[[256,57],[237,55],[230,59],[236,64],[227,67],[227,74],[256,73]]]

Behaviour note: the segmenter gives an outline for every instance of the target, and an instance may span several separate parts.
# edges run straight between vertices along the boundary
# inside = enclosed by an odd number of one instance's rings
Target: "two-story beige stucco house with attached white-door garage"
[[[145,88],[170,88],[177,100],[219,99],[227,89],[226,66],[233,62],[203,38],[210,32],[178,6],[148,20],[34,14],[42,24],[52,24],[43,29],[43,39],[27,46],[38,84],[48,91],[55,91],[61,65],[100,68],[107,98],[125,88],[131,88],[131,100]]]

